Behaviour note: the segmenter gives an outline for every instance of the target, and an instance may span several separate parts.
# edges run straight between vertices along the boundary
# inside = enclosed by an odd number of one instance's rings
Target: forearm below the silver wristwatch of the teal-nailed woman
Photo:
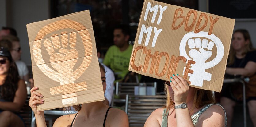
[[[195,127],[192,122],[188,108],[175,109],[175,114],[176,114],[177,127]]]

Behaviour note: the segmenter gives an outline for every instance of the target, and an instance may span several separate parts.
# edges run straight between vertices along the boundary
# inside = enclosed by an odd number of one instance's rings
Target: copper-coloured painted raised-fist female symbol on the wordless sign
[[[82,57],[78,57],[78,49],[76,49],[79,40],[83,45]],[[42,54],[44,48],[47,53]],[[60,83],[60,86],[50,88],[51,95],[62,94],[64,105],[76,103],[76,92],[87,90],[87,86],[86,82],[74,83],[74,81],[85,72],[92,59],[92,41],[86,27],[67,19],[50,23],[38,32],[32,50],[38,68],[50,79]],[[43,59],[43,57],[47,58],[45,57],[47,55],[50,56],[49,63],[53,69]],[[73,71],[78,58],[83,58],[81,65]]]

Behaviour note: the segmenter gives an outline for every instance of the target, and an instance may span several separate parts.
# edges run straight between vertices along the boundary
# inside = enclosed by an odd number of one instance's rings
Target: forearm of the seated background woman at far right
[[[226,68],[226,73],[230,75],[250,76],[250,71],[245,68]]]

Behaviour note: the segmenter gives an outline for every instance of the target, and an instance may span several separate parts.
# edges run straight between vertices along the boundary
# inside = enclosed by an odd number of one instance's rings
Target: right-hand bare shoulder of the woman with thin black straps
[[[107,123],[114,127],[129,127],[127,114],[120,109],[110,108],[107,117]]]

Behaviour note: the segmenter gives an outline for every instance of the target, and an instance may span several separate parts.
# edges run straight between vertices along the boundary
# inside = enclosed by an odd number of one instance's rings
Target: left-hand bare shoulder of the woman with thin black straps
[[[71,124],[76,114],[68,114],[59,117],[55,122],[53,127],[67,127]]]

